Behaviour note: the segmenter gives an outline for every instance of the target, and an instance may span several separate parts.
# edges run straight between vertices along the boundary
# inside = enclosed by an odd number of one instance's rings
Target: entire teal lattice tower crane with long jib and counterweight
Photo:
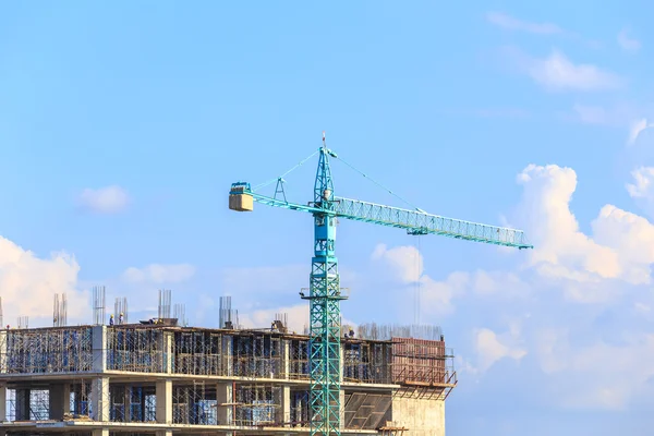
[[[282,178],[316,154],[318,154],[318,169],[314,182],[313,202],[303,205],[287,201]],[[325,132],[323,132],[322,146],[282,177],[254,189],[247,182],[232,183],[229,192],[229,208],[232,210],[252,211],[254,202],[257,202],[267,206],[300,210],[313,215],[314,256],[312,258],[308,295],[300,293],[302,299],[310,302],[308,356],[311,384],[308,403],[312,436],[339,436],[341,434],[340,302],[346,300],[347,296],[341,294],[338,259],[335,254],[338,218],[396,227],[404,229],[413,235],[439,234],[519,250],[533,249],[532,245],[526,243],[524,233],[521,230],[431,215],[415,207],[404,209],[335,196],[329,165],[330,158],[339,159],[336,153],[327,148]],[[344,162],[342,159],[339,160]],[[277,184],[274,196],[262,195],[257,192],[258,189],[275,182]]]

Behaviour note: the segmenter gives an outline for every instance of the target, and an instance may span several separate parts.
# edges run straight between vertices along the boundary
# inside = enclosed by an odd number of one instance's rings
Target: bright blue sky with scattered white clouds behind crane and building
[[[5,323],[55,292],[132,316],[301,325],[312,221],[227,207],[310,155],[439,215],[523,228],[507,252],[342,222],[351,323],[443,326],[450,435],[649,434],[654,405],[654,4],[27,3],[0,10]],[[311,199],[315,160],[288,180]],[[343,165],[337,195],[402,206]],[[416,276],[419,264],[422,265]],[[111,304],[110,304],[111,305]]]

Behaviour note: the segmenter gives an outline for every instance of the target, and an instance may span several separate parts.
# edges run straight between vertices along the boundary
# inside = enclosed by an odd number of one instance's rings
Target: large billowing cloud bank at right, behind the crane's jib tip
[[[649,195],[653,173],[634,171],[633,195]],[[530,165],[517,181],[523,195],[511,221],[535,249],[516,256],[508,270],[428,278],[423,319],[441,324],[456,313],[450,329],[464,331],[452,343],[460,368],[480,379],[509,376],[509,371],[511,378],[530,377],[529,390],[536,387],[550,399],[549,407],[625,410],[638,398],[652,398],[654,370],[645,362],[654,359],[654,226],[606,204],[590,231],[582,231],[571,209],[578,182],[571,168]],[[395,263],[389,270],[407,283],[415,270],[407,258],[421,256],[411,250],[384,246],[375,253]],[[424,276],[421,280],[426,282]],[[444,302],[449,312],[434,312]],[[468,343],[460,342],[461,335]]]

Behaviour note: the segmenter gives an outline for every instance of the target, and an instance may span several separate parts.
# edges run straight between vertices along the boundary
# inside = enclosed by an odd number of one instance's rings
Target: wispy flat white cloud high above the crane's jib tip
[[[521,56],[520,66],[546,89],[593,92],[622,86],[622,78],[590,63],[573,63],[560,51],[554,50],[544,59]]]

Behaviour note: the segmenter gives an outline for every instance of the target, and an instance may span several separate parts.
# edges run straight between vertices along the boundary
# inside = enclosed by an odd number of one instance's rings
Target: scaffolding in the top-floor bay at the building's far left
[[[5,332],[0,373],[87,372],[93,365],[90,327],[21,329]]]

